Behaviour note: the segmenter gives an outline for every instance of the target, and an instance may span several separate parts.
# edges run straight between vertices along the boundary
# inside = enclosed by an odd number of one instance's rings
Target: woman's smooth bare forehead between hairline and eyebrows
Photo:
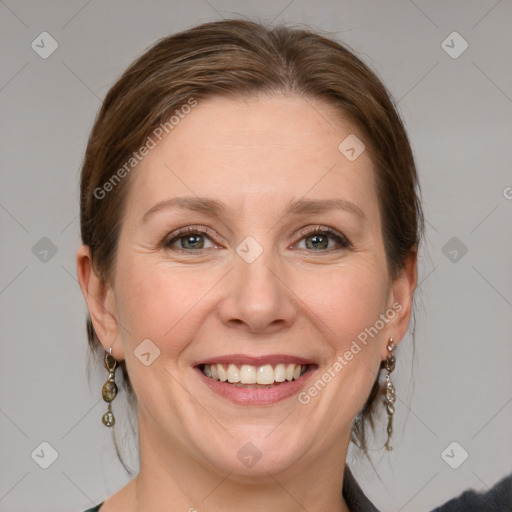
[[[271,209],[291,197],[337,196],[363,203],[371,216],[378,209],[372,162],[365,151],[350,160],[339,149],[354,136],[363,139],[334,107],[310,98],[200,101],[137,166],[130,209],[140,216],[180,195]]]

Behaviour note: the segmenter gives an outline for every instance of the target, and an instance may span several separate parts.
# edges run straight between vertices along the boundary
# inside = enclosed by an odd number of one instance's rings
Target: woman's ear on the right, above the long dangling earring
[[[391,283],[388,308],[395,311],[395,316],[386,327],[387,333],[389,337],[393,338],[395,345],[400,343],[409,328],[414,290],[418,282],[417,258],[418,249],[413,247],[400,274]],[[382,347],[381,360],[386,359],[388,355],[387,342],[388,339],[385,340],[385,345]]]

